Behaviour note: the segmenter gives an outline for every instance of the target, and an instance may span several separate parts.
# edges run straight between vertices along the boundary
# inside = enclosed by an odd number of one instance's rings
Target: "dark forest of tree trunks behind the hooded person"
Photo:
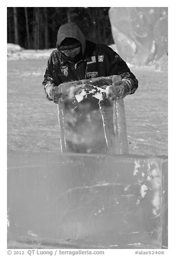
[[[8,43],[25,49],[55,48],[59,27],[76,23],[86,39],[113,44],[109,7],[8,7]]]

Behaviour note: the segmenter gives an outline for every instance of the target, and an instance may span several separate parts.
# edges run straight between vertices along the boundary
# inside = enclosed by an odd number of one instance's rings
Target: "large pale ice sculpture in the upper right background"
[[[109,11],[118,53],[136,65],[167,69],[167,7],[112,7]]]

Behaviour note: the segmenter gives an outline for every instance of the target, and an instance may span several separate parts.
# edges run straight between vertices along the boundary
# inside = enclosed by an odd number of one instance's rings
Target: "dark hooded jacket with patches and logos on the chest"
[[[65,38],[75,38],[82,44],[82,59],[77,63],[61,54],[59,46]],[[75,24],[64,24],[57,33],[57,49],[49,57],[44,76],[43,86],[47,99],[52,101],[50,90],[61,83],[92,79],[99,76],[120,75],[132,84],[133,94],[138,87],[138,81],[130,72],[125,61],[110,47],[94,44],[85,40],[82,31]]]

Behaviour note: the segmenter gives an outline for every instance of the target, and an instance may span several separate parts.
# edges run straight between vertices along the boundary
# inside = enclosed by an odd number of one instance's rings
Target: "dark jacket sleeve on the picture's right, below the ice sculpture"
[[[126,62],[119,56],[119,54],[114,52],[110,47],[108,48],[108,75],[120,75],[122,79],[127,79],[132,85],[130,94],[134,94],[134,92],[138,88],[138,81],[135,75],[130,72],[130,69],[127,66]]]

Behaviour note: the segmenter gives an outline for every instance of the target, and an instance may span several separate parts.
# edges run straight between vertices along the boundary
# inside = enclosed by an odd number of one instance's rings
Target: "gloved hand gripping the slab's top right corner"
[[[125,98],[128,94],[130,94],[132,90],[132,84],[127,79],[121,79],[119,81],[115,81],[112,86],[109,88],[109,96],[112,100],[116,98]]]

